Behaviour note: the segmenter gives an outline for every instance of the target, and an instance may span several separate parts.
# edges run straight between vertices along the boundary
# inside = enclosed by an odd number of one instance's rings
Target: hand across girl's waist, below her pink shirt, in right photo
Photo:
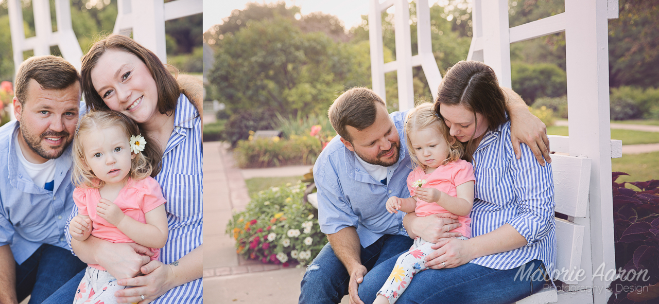
[[[457,218],[458,216],[452,213],[438,213],[428,216],[416,216],[415,213],[408,213],[403,219],[403,224],[411,238],[420,236],[424,241],[437,243],[444,238],[462,236],[460,232],[449,232],[462,226]]]

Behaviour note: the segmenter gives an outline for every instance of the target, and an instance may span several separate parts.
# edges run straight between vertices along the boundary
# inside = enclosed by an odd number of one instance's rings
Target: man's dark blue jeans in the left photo
[[[43,244],[21,265],[16,264],[16,297],[20,302],[31,294],[29,304],[42,303],[86,266],[71,251]]]

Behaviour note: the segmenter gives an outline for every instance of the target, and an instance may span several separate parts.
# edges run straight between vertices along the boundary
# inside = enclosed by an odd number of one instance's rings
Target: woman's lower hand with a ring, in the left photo
[[[165,294],[173,284],[174,272],[170,265],[159,261],[151,261],[141,268],[144,276],[125,278],[117,281],[121,286],[135,286],[115,292],[117,303],[151,303],[154,299]],[[144,295],[144,300],[140,295]]]

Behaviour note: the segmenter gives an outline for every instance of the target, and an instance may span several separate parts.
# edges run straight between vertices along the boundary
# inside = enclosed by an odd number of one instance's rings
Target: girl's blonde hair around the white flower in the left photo
[[[105,182],[98,179],[94,172],[85,168],[84,143],[80,136],[93,130],[101,130],[118,126],[126,139],[130,136],[140,134],[140,128],[137,124],[126,115],[115,111],[90,111],[80,118],[76,135],[73,139],[73,172],[71,179],[76,187],[84,186],[86,188],[102,188]],[[141,180],[148,176],[156,176],[160,172],[162,153],[155,141],[146,138],[147,145],[144,151],[136,154],[130,163],[130,177],[134,180]]]

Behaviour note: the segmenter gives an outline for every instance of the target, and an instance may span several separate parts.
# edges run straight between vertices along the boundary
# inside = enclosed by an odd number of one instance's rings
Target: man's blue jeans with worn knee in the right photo
[[[366,248],[360,247],[362,265],[371,270],[390,257],[407,251],[413,242],[414,240],[408,236],[382,236],[372,245]],[[328,243],[311,265],[306,267],[302,277],[299,303],[339,303],[348,293],[349,281],[348,270],[334,255]]]

